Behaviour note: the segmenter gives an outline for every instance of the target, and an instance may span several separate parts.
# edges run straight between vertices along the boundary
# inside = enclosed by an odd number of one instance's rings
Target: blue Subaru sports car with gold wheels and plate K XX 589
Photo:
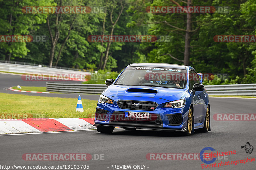
[[[209,96],[202,73],[191,66],[133,63],[100,95],[95,124],[98,132],[156,129],[185,136],[211,130]]]

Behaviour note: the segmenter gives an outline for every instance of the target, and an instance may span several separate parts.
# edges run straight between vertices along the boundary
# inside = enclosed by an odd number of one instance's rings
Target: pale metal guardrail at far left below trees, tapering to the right
[[[34,65],[22,65],[22,64],[11,64],[11,63],[1,63],[0,71],[8,71],[15,73],[32,73],[32,74],[91,74],[84,71],[66,70],[66,69],[56,69],[50,67],[39,67]]]

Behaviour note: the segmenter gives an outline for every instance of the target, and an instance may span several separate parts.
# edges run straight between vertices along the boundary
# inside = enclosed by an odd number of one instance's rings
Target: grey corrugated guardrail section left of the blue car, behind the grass
[[[47,92],[100,94],[108,86],[99,84],[51,83],[46,82]]]

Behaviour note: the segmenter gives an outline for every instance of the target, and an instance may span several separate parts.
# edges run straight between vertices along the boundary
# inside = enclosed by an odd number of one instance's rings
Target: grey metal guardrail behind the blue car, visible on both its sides
[[[46,83],[47,92],[99,94],[108,86],[99,84]],[[248,95],[256,96],[256,84],[205,85],[209,95]]]

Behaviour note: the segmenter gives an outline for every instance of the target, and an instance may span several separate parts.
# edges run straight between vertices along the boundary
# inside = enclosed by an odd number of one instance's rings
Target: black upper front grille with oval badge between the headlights
[[[133,106],[134,103],[140,103],[140,106]],[[155,110],[158,104],[152,101],[119,100],[117,105],[121,109],[131,110]]]

